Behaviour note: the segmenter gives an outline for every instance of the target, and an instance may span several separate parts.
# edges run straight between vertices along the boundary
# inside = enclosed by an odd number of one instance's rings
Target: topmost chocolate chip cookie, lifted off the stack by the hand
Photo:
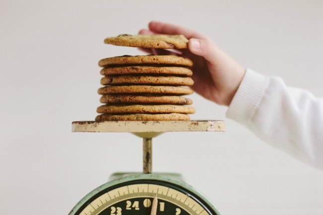
[[[186,49],[188,39],[183,35],[121,34],[117,37],[106,38],[104,43],[116,46],[141,47],[148,49]]]

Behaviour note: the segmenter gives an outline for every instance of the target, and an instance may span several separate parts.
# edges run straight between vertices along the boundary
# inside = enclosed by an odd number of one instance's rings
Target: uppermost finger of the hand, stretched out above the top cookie
[[[159,33],[159,34],[182,34],[184,35],[187,39],[190,38],[204,38],[203,35],[188,29],[184,28],[181,26],[177,26],[174,24],[168,24],[168,23],[163,23],[163,22],[158,22],[158,21],[152,21],[149,23],[149,29],[154,32],[154,33]]]

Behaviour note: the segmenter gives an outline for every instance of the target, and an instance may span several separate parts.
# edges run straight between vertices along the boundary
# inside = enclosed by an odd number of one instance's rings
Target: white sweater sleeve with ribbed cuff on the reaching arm
[[[227,117],[266,143],[323,169],[323,98],[248,69]]]

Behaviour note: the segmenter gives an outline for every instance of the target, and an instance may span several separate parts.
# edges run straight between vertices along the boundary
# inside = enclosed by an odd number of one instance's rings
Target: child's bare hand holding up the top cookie
[[[188,41],[188,50],[178,50],[179,56],[193,61],[192,89],[220,105],[230,105],[245,73],[245,69],[217,47],[208,37],[193,30],[162,22],[150,22],[149,30],[140,34],[182,34]],[[166,50],[142,49],[151,54],[170,54]],[[174,54],[174,53],[171,53]]]

